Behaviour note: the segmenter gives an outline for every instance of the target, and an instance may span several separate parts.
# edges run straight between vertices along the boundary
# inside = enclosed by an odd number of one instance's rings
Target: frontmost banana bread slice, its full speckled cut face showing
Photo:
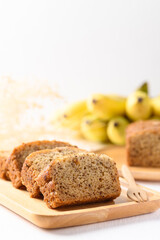
[[[36,181],[50,208],[100,202],[120,195],[116,164],[105,154],[78,152],[55,157],[52,150],[46,150],[44,158],[53,161]]]

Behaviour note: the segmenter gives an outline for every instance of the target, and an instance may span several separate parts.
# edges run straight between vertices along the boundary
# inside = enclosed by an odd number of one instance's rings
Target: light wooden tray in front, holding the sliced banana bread
[[[0,179],[0,204],[41,228],[62,228],[103,222],[150,213],[160,208],[160,194],[144,188],[149,201],[136,203],[126,196],[127,183],[121,179],[121,196],[114,201],[49,209],[42,199],[33,199],[25,190]]]

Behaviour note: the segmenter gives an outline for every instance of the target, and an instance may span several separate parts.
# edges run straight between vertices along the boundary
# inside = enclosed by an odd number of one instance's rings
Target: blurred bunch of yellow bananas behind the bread
[[[128,124],[141,119],[160,120],[160,96],[151,99],[147,83],[127,98],[93,94],[69,105],[52,122],[76,130],[89,141],[124,145]]]

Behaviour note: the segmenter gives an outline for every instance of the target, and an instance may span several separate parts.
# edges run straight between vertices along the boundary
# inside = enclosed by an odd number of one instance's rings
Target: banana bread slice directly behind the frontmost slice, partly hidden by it
[[[80,150],[77,147],[58,147],[52,150],[51,157],[46,157],[48,150],[40,150],[31,153],[24,161],[21,171],[22,183],[26,186],[30,196],[39,197],[41,195],[35,179],[38,177],[40,172],[53,160],[53,158],[82,151],[83,150]]]

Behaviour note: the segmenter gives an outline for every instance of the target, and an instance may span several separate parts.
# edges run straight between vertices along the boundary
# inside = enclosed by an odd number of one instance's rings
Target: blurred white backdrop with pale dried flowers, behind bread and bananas
[[[53,138],[54,112],[92,93],[148,81],[159,95],[159,13],[158,0],[1,0],[0,147]]]

